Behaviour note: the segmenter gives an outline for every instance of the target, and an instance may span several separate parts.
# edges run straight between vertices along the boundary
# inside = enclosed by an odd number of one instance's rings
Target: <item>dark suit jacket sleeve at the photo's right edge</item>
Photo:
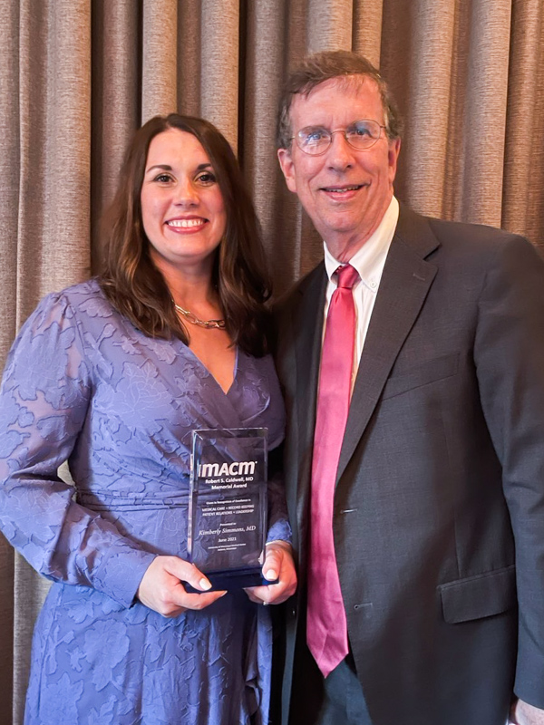
[[[498,244],[486,275],[474,362],[515,540],[515,692],[544,708],[544,263],[520,237]]]

